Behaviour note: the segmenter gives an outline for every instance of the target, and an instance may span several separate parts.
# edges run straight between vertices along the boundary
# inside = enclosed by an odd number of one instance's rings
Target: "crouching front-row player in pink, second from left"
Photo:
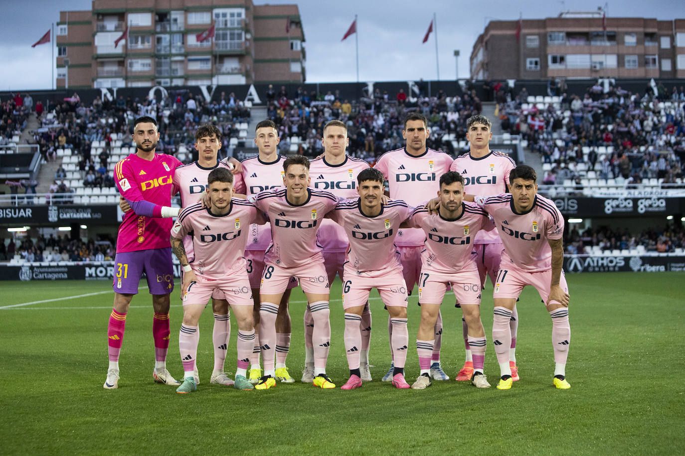
[[[335,388],[326,375],[331,340],[330,289],[321,246],[316,244],[316,232],[323,216],[336,206],[338,200],[327,191],[307,188],[310,178],[306,157],[288,157],[283,162],[283,169],[285,189],[262,191],[257,198],[251,198],[269,215],[273,238],[264,256],[260,286],[260,345],[264,376],[256,388],[266,390],[275,385],[276,315],[292,277],[299,279],[314,319],[314,386]]]

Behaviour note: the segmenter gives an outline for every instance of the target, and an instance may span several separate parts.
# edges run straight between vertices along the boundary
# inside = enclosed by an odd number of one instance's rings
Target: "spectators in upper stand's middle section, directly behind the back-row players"
[[[323,126],[337,119],[347,124],[349,155],[373,163],[383,152],[404,146],[402,120],[409,113],[421,112],[431,129],[428,147],[455,155],[452,142],[443,142],[443,136],[453,133],[464,137],[466,119],[482,111],[475,90],[454,97],[448,97],[443,90],[427,96],[421,84],[418,90],[416,97],[408,96],[403,89],[391,96],[376,88],[373,93],[362,94],[360,100],[350,101],[340,96],[338,90],[307,93],[298,87],[289,94],[284,85],[279,92],[270,86],[266,92],[267,116],[279,128],[282,153],[297,144],[297,153],[320,155]]]

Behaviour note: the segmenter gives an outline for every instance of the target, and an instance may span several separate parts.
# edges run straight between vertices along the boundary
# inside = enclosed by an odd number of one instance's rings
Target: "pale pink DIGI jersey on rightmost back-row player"
[[[494,196],[506,193],[509,173],[516,167],[514,159],[502,152],[490,151],[485,157],[475,159],[470,153],[460,155],[449,167],[464,178],[464,193],[477,196]],[[499,243],[497,230],[480,231],[475,236],[477,244]]]

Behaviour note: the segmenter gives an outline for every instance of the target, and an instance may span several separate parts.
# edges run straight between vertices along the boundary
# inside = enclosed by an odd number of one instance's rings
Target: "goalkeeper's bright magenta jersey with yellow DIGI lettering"
[[[160,207],[171,206],[173,174],[181,164],[171,155],[155,154],[148,161],[131,154],[116,163],[114,182],[121,196],[129,202],[148,201]],[[128,211],[123,215],[116,236],[116,252],[169,247],[171,225],[171,218],[147,217]]]

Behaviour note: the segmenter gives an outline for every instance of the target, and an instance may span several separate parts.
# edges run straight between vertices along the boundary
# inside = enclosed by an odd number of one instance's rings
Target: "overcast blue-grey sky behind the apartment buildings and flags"
[[[436,37],[440,79],[454,79],[459,49],[459,77],[469,77],[473,43],[491,20],[554,17],[562,10],[593,11],[598,0],[256,0],[255,3],[297,3],[307,51],[308,82],[356,81],[355,36],[340,42],[358,15],[360,81],[437,79]],[[647,17],[671,20],[685,17],[678,1],[620,0],[608,4],[609,17]],[[31,48],[60,10],[90,10],[90,0],[1,0],[0,90],[51,88],[51,45]],[[463,7],[460,7],[463,5]],[[421,44],[437,16],[437,33]],[[491,16],[490,16],[491,15]],[[285,26],[284,26],[285,27]],[[55,52],[56,54],[56,52]]]

